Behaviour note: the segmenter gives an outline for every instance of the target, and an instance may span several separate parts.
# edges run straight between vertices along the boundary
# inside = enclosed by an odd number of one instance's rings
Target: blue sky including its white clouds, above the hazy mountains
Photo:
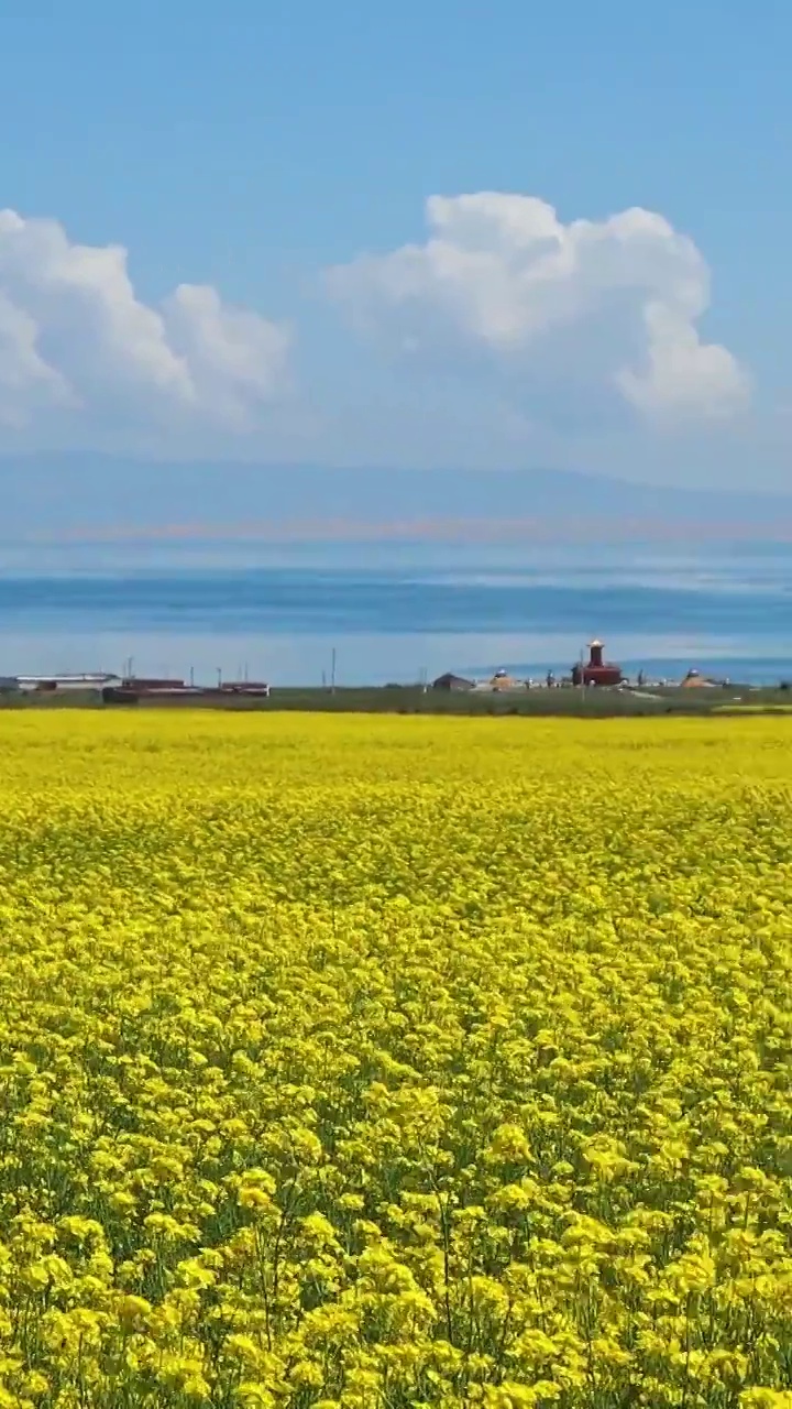
[[[0,454],[786,490],[791,44],[781,0],[6,0]]]

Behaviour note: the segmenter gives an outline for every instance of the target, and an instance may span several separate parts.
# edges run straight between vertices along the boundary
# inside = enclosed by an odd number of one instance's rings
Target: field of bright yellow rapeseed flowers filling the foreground
[[[785,719],[0,720],[0,1409],[792,1405]]]

